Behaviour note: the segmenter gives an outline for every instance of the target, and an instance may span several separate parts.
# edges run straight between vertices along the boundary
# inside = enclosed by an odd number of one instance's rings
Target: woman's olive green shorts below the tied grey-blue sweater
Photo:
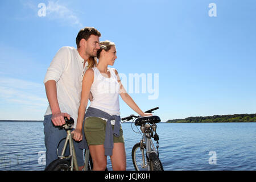
[[[112,125],[114,129],[114,125]],[[88,117],[85,119],[84,133],[88,145],[104,144],[106,131],[106,121],[97,117]],[[120,126],[119,137],[113,135],[114,143],[125,143],[123,139],[123,130]]]

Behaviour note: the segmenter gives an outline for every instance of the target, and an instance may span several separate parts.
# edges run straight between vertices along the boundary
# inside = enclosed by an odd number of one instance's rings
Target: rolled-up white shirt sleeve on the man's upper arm
[[[49,80],[55,80],[57,82],[60,79],[62,73],[68,67],[69,57],[70,53],[67,47],[59,49],[47,69],[46,77],[44,77],[44,84]]]

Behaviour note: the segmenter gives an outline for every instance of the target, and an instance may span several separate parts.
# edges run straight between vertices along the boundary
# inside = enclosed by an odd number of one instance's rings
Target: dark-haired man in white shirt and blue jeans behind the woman
[[[62,138],[67,136],[65,130],[58,126],[65,123],[64,117],[77,123],[77,113],[80,105],[82,78],[87,68],[94,67],[97,51],[100,49],[100,32],[95,28],[86,27],[79,31],[76,37],[77,49],[62,47],[53,58],[47,69],[44,85],[49,101],[44,115],[44,142],[46,144],[46,166],[57,159],[56,148]],[[89,63],[88,63],[89,62]],[[82,149],[79,143],[75,145],[77,163],[81,169],[84,163]]]

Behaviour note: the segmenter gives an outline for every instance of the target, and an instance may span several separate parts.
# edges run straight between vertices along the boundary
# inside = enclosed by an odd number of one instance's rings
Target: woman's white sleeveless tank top
[[[92,68],[94,71],[94,79],[90,92],[92,92],[93,100],[90,107],[105,111],[110,115],[120,115],[119,109],[119,83],[114,68],[108,68],[110,78],[101,75],[98,68]]]

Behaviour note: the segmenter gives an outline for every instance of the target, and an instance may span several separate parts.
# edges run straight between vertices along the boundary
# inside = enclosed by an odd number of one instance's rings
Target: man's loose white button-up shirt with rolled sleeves
[[[86,61],[74,47],[62,47],[53,58],[44,78],[44,84],[48,80],[55,80],[57,87],[57,100],[61,113],[68,113],[74,119],[76,128],[77,115],[81,100],[82,78],[87,69]],[[48,106],[46,114],[52,114]]]

